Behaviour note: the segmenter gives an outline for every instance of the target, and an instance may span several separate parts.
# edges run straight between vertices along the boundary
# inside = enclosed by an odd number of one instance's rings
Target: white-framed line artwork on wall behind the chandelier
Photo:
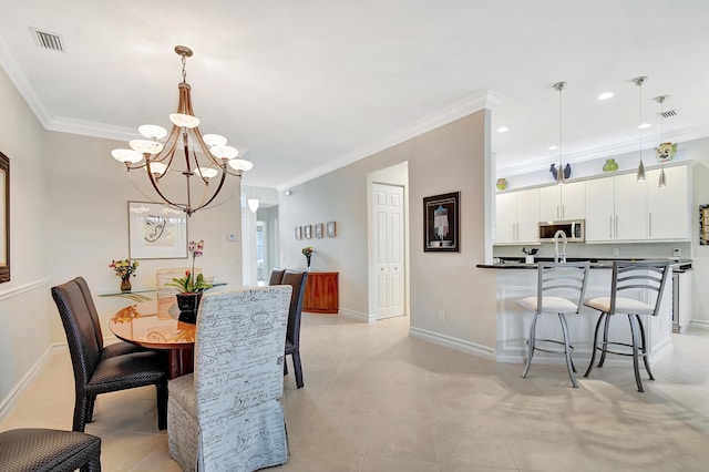
[[[187,215],[157,203],[129,202],[131,259],[187,257]]]

